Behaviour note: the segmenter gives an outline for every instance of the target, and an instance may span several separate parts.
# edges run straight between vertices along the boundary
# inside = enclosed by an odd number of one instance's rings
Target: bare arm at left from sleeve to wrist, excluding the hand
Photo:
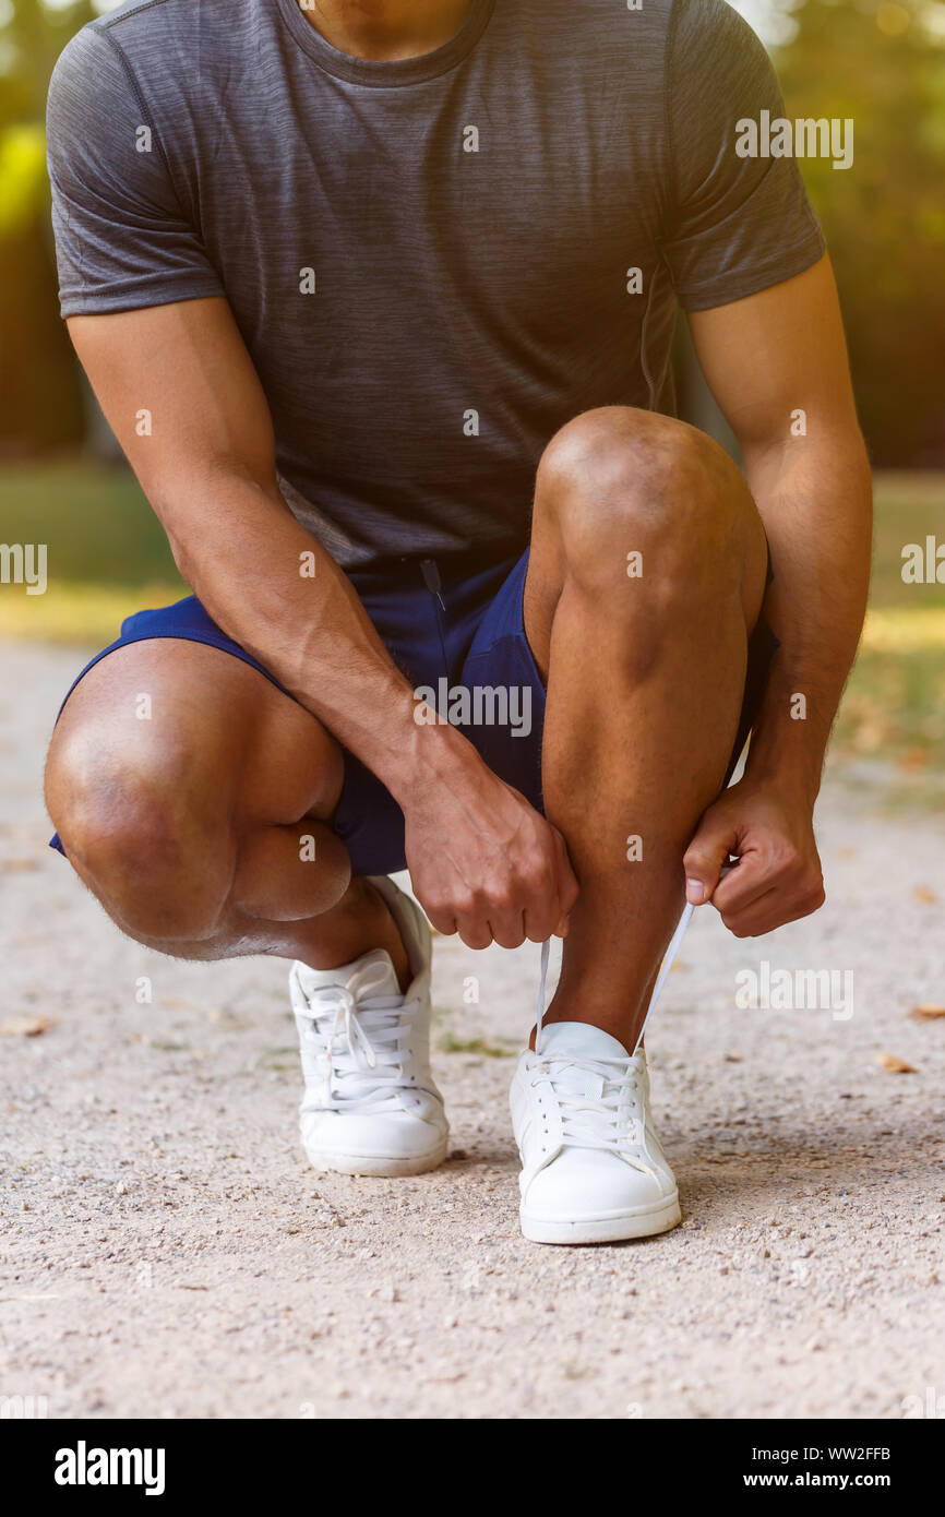
[[[394,795],[419,766],[437,766],[438,749],[469,748],[452,728],[413,721],[410,684],[350,581],[285,505],[268,405],[226,300],[80,316],[68,329],[214,620]],[[312,552],[314,576],[303,576]]]

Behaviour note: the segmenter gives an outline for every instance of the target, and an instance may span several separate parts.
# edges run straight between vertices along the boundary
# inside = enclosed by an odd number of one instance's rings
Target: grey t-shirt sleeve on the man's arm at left
[[[47,165],[64,317],[223,294],[129,64],[94,26],[53,70]]]

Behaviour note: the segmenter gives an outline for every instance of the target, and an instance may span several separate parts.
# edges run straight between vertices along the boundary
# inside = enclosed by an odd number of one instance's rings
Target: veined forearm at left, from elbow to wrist
[[[275,482],[221,466],[187,492],[170,481],[152,498],[181,572],[214,620],[400,804],[478,763],[455,728],[416,721],[414,690],[353,586]]]

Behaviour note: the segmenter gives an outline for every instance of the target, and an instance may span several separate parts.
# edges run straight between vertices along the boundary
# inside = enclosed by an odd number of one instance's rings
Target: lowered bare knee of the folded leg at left
[[[220,798],[199,796],[184,755],[109,754],[82,730],[53,737],[49,813],[76,871],[132,938],[211,938],[235,842]]]

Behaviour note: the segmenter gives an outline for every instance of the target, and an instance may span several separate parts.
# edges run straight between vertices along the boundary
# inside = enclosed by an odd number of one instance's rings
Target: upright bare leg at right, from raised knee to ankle
[[[581,884],[549,1021],[639,1036],[736,739],[764,564],[748,487],[702,432],[608,407],[546,449],[525,622],[548,677],[546,810]]]

